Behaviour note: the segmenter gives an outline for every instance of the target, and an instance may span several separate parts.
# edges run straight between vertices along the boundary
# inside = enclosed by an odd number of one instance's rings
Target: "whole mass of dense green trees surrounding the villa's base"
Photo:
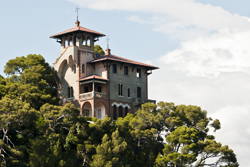
[[[200,107],[146,103],[116,122],[91,119],[71,103],[57,105],[55,73],[41,55],[9,60],[4,72],[0,166],[238,166],[233,150],[208,133],[219,120]]]

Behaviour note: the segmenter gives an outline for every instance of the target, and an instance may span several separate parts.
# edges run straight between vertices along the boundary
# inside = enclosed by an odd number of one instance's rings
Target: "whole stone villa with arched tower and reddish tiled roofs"
[[[148,99],[147,77],[158,67],[112,55],[110,49],[96,55],[94,42],[105,35],[79,24],[51,36],[61,43],[61,56],[53,64],[60,103],[73,102],[84,116],[113,120],[155,103]]]

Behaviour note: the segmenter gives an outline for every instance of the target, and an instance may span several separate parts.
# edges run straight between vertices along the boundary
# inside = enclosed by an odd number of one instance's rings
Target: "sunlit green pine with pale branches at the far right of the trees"
[[[167,143],[163,154],[156,158],[155,166],[238,166],[233,151],[208,135],[209,126],[214,131],[220,129],[218,119],[213,121],[207,118],[207,112],[197,106],[174,106],[173,103],[163,102],[158,105],[160,113],[164,111],[168,115],[165,118]],[[215,161],[206,164],[209,158]]]

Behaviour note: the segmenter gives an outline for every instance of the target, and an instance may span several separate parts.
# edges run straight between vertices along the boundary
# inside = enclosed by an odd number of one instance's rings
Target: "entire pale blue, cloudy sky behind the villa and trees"
[[[158,66],[149,98],[198,105],[221,121],[216,140],[250,166],[249,0],[0,0],[0,75],[9,59],[60,45],[49,36],[80,25],[108,35],[111,53]],[[106,37],[96,43],[106,49]]]

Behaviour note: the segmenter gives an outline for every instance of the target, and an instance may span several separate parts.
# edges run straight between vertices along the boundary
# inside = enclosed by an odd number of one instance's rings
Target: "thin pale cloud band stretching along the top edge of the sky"
[[[151,13],[165,20],[165,24],[158,25],[158,29],[167,33],[171,33],[175,29],[183,29],[192,26],[209,31],[218,31],[220,29],[227,29],[228,27],[237,30],[246,30],[250,28],[249,22],[244,17],[237,14],[233,15],[220,7],[204,5],[194,0],[69,1],[95,10],[124,10]],[[138,20],[138,18],[137,16],[137,18],[133,20],[141,23],[147,22],[141,19]]]

